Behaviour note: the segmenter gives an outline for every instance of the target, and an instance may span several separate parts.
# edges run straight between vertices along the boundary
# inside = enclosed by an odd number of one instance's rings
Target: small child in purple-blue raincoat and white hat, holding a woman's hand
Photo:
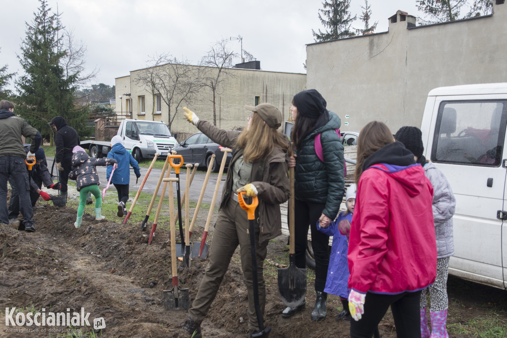
[[[333,245],[331,246],[331,255],[329,257],[328,277],[325,282],[324,292],[340,296],[343,310],[336,316],[336,319],[343,319],[350,322],[350,311],[348,307],[348,237],[350,233],[350,222],[354,212],[355,193],[357,186],[350,184],[345,194],[345,204],[347,210],[340,212],[338,217],[325,227],[317,221],[317,229],[328,235],[333,236]]]

